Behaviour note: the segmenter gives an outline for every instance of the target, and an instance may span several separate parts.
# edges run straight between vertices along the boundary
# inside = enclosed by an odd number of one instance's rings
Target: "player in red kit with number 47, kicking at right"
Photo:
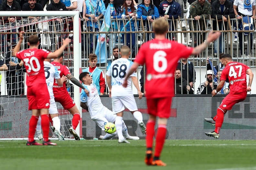
[[[212,91],[212,96],[215,96],[216,93],[222,89],[227,79],[229,80],[230,92],[225,99],[222,100],[219,108],[217,109],[217,115],[214,118],[205,118],[206,122],[215,124],[215,130],[205,134],[209,137],[215,138],[219,138],[219,131],[222,126],[225,113],[227,113],[228,110],[231,110],[236,103],[245,100],[247,91],[251,91],[251,83],[253,79],[251,69],[243,63],[232,61],[231,55],[224,54],[221,60],[225,68],[222,71],[217,89]],[[246,82],[246,74],[249,75],[248,86]]]

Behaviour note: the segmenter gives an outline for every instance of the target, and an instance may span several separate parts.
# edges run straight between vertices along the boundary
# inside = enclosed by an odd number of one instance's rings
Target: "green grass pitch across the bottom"
[[[167,140],[161,155],[166,167],[144,164],[145,140],[54,141],[57,146],[25,146],[0,141],[0,170],[253,170],[255,140]]]

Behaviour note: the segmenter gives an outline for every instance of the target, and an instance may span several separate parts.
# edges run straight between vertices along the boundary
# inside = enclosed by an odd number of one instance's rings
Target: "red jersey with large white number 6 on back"
[[[188,58],[193,48],[167,39],[142,44],[135,62],[146,64],[147,98],[174,96],[174,72],[181,58]]]

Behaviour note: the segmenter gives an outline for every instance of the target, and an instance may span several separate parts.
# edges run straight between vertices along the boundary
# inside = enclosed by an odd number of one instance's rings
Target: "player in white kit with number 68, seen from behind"
[[[131,65],[133,64],[132,61],[128,60],[130,54],[131,54],[130,48],[127,45],[122,46],[120,50],[121,58],[113,61],[106,73],[107,85],[109,88],[109,97],[112,98],[113,113],[117,114],[115,124],[117,128],[119,143],[129,143],[121,135],[123,111],[125,107],[127,107],[133,114],[134,118],[138,120],[138,124],[141,128],[141,132],[143,134],[146,133],[146,126],[142,121],[141,113],[138,111],[135,99],[133,97],[132,88],[131,88],[131,80],[132,80],[134,86],[138,90],[139,99],[141,99],[142,93],[139,89],[139,83],[138,83],[136,74],[133,73],[129,77],[127,88],[124,88],[122,86],[123,81],[125,80],[125,76],[128,73]]]

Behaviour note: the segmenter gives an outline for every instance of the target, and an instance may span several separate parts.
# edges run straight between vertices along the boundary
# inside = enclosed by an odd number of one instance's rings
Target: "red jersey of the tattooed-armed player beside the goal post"
[[[57,70],[59,71],[60,73],[60,76],[62,77],[63,75],[66,76],[68,74],[71,74],[70,71],[69,71],[69,68],[65,65],[62,65],[61,63],[59,62],[51,62],[52,65],[54,65]],[[63,90],[67,91],[66,89],[66,83],[63,83],[63,86],[59,86],[58,83],[56,82],[56,80],[54,80],[54,83],[53,83],[53,93],[54,94],[58,94],[60,92],[63,92]]]

